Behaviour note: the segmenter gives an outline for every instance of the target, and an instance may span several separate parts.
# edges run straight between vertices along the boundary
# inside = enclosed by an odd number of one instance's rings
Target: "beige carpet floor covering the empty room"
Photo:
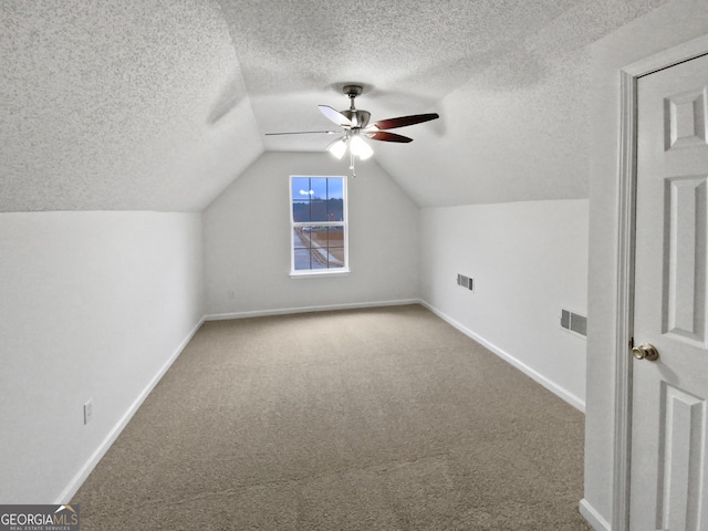
[[[583,415],[418,305],[207,322],[82,530],[590,530]]]

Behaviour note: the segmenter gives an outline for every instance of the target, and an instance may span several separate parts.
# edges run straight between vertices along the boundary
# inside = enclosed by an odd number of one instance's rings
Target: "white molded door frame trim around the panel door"
[[[637,177],[637,82],[639,77],[708,54],[708,35],[632,63],[620,71],[620,175],[617,194],[617,285],[615,423],[612,531],[629,530],[632,459],[632,356]]]

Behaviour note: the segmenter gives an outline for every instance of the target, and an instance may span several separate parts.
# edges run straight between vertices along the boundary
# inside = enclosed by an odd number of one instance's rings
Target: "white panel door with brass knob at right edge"
[[[706,55],[638,80],[632,531],[708,531],[707,100]]]

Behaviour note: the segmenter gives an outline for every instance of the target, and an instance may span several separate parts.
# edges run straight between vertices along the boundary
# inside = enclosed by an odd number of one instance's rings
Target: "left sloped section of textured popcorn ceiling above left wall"
[[[262,153],[217,3],[0,13],[0,210],[201,210]]]

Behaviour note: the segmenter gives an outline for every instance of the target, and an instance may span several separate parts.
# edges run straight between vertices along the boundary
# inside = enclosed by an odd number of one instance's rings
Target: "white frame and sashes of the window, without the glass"
[[[342,198],[343,198],[343,221],[295,221],[293,218],[293,188],[292,183],[295,178],[313,178],[313,179],[342,179]],[[346,189],[347,178],[341,175],[291,175],[289,177],[289,195],[288,208],[290,210],[290,277],[293,279],[312,279],[321,277],[342,277],[350,273],[350,227],[348,227],[348,194]],[[295,270],[295,242],[294,233],[298,227],[342,227],[344,229],[344,267],[343,268],[323,268],[323,269],[298,269]]]

